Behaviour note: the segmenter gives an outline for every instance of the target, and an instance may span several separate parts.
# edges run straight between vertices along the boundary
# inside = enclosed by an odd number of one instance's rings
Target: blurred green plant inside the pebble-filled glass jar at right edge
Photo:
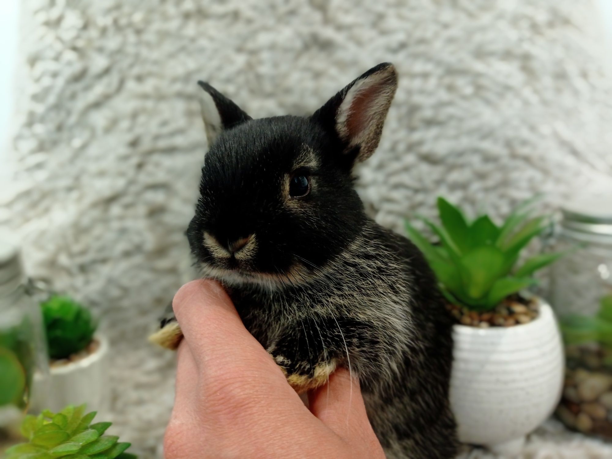
[[[602,297],[595,316],[569,314],[559,323],[565,345],[599,343],[612,350],[612,294]]]

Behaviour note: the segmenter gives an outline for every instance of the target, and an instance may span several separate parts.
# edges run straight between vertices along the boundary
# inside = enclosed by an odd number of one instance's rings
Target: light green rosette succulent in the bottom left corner
[[[28,415],[21,433],[28,439],[10,447],[5,459],[135,459],[125,453],[130,443],[104,435],[110,422],[91,424],[95,411],[83,416],[85,405],[67,406],[58,413],[45,410],[39,416]]]

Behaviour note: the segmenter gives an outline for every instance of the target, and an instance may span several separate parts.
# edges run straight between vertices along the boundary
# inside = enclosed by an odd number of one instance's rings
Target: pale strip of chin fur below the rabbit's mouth
[[[301,266],[294,266],[285,273],[223,269],[206,263],[200,263],[197,266],[200,275],[204,278],[212,278],[230,286],[258,285],[269,291],[301,285],[312,278],[312,274],[307,273]]]

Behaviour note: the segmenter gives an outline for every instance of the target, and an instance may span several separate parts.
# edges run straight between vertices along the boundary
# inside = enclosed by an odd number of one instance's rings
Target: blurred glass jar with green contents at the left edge
[[[0,234],[0,444],[18,431],[34,376],[45,380],[47,374],[40,308],[26,289],[17,245]]]

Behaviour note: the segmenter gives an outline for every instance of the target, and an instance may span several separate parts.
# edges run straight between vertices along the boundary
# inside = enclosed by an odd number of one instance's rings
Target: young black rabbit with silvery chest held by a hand
[[[308,118],[252,119],[198,84],[210,149],[187,237],[200,275],[225,286],[297,392],[339,366],[357,376],[389,459],[455,457],[451,316],[419,250],[368,218],[353,186],[381,138],[394,66]],[[181,337],[170,307],[152,340],[174,349]]]

